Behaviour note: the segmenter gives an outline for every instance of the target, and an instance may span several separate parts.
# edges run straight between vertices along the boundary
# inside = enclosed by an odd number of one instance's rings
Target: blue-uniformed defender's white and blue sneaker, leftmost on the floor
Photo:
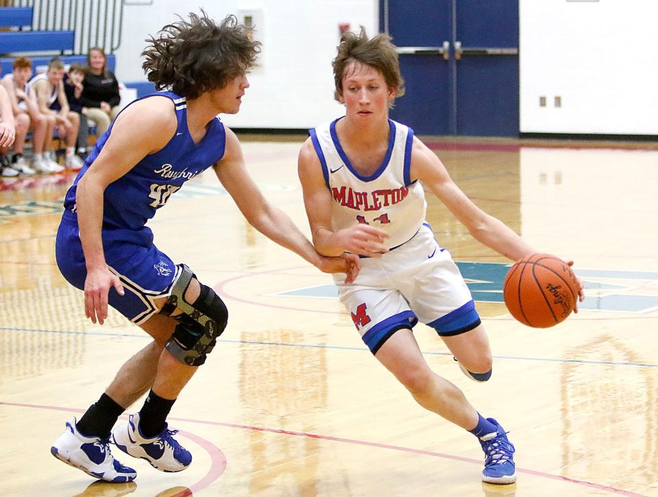
[[[66,430],[50,448],[60,461],[86,474],[112,483],[133,481],[137,473],[112,457],[110,440],[86,437],[75,428],[75,417],[66,423]]]

